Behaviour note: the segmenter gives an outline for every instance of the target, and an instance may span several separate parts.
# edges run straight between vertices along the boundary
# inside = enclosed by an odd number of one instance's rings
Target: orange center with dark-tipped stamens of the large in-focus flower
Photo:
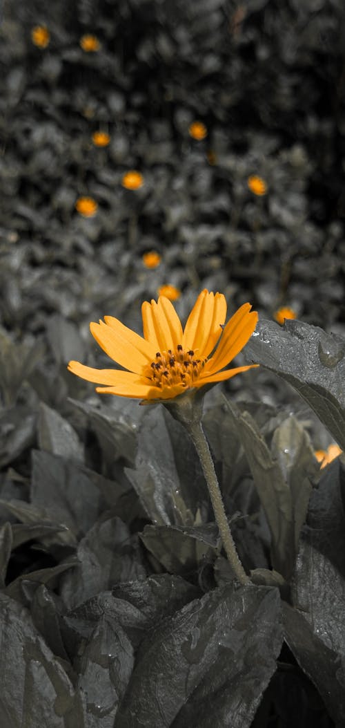
[[[182,384],[188,389],[200,376],[206,358],[197,359],[192,349],[186,351],[181,344],[167,352],[157,352],[155,361],[145,368],[145,376],[153,383],[153,387],[173,387]]]

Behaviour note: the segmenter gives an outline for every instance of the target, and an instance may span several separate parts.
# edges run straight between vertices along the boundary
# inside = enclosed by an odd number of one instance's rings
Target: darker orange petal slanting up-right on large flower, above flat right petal
[[[251,312],[251,304],[243,304],[232,316],[224,328],[222,339],[209,365],[206,363],[205,374],[214,374],[230,364],[232,359],[245,347],[258,321],[256,311]]]

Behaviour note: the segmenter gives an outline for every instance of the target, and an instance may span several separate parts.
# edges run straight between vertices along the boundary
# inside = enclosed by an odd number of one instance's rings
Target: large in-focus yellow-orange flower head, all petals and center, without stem
[[[203,290],[182,329],[166,296],[142,304],[144,336],[113,316],[91,323],[90,331],[103,351],[125,368],[94,369],[70,361],[69,371],[102,384],[97,392],[141,400],[171,400],[190,389],[230,379],[257,364],[225,369],[253,333],[258,314],[243,304],[224,325],[227,303],[222,293]],[[214,351],[214,348],[216,350]],[[212,356],[210,356],[214,352]]]

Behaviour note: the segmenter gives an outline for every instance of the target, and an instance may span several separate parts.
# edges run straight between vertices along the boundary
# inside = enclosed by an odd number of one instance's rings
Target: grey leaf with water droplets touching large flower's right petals
[[[288,381],[345,450],[345,339],[302,321],[261,320],[245,357]]]

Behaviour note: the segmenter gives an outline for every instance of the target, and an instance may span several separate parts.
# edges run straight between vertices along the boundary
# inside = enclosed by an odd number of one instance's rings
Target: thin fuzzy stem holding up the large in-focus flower
[[[214,462],[212,460],[210,448],[203,432],[201,422],[184,422],[184,426],[187,427],[190,437],[195,446],[195,450],[198,453],[201,467],[203,468],[203,474],[206,478],[208,486],[208,492],[211,497],[211,503],[214,509],[214,515],[216,516],[216,522],[218,524],[219,532],[222,538],[224,550],[227,554],[227,558],[235,571],[236,577],[241,584],[250,584],[251,579],[245,574],[242,563],[238,558],[238,552],[236,550],[234,539],[230,531],[229,522],[227,520],[227,514],[225,513],[224,503],[222,499],[222,493],[219,488],[219,483],[214,470]]]

